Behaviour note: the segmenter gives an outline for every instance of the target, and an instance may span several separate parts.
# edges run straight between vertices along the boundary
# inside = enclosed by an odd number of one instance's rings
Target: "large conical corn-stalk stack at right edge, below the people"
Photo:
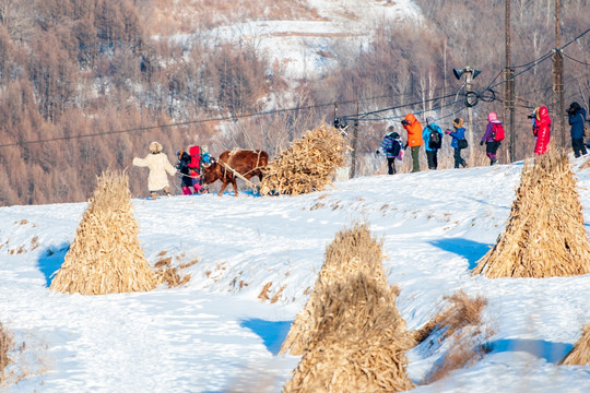
[[[489,278],[590,273],[582,206],[565,153],[524,164],[506,229],[473,273]]]

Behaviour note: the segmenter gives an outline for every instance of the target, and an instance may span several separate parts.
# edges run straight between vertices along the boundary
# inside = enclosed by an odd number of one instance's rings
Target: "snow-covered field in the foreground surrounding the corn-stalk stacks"
[[[590,170],[573,162],[590,225]],[[440,348],[412,349],[415,392],[589,392],[590,367],[558,366],[590,322],[590,275],[488,279],[471,269],[502,233],[521,163],[362,177],[299,196],[135,199],[151,264],[172,257],[188,285],[81,296],[48,289],[86,203],[0,209],[0,322],[19,349],[7,392],[280,392],[299,357],[278,355],[338,231],[384,240],[410,330],[463,289],[488,300],[493,350],[432,384]],[[145,174],[146,176],[146,174]],[[268,296],[259,295],[270,284]],[[24,343],[24,344],[23,344]],[[17,384],[11,382],[19,380]]]

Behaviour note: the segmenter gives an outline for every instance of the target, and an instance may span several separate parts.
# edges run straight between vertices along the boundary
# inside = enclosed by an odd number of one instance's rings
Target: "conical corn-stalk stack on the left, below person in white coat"
[[[82,295],[143,291],[156,276],[140,246],[129,178],[103,172],[50,288]]]

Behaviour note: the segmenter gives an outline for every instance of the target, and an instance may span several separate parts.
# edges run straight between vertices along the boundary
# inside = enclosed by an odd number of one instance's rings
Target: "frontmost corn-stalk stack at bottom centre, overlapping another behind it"
[[[291,392],[400,392],[415,388],[404,352],[414,345],[396,307],[394,288],[353,274],[324,293],[317,334],[293,377]]]

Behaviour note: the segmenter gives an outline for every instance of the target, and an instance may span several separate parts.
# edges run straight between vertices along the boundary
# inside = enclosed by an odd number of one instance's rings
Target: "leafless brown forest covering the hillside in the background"
[[[214,155],[244,147],[272,157],[331,121],[333,103],[342,115],[354,115],[358,103],[361,112],[401,107],[387,116],[439,107],[464,116],[462,103],[451,105],[461,86],[452,69],[481,70],[475,90],[502,81],[505,1],[416,3],[421,25],[379,26],[361,52],[331,48],[326,56],[338,67],[290,91],[281,67],[256,47],[204,32],[247,20],[319,19],[304,0],[0,0],[0,205],[85,201],[103,170],[126,167],[132,193],[146,195],[146,172],[130,163],[153,140],[173,164],[174,152],[192,143],[208,144]],[[511,4],[512,64],[523,64],[521,71],[556,46],[555,1]],[[588,29],[590,4],[560,4],[564,45]],[[190,45],[166,38],[201,32]],[[566,105],[588,103],[589,47],[590,34],[567,47]],[[494,91],[495,100],[473,108],[475,123],[491,110],[502,114],[503,86]],[[269,114],[270,96],[275,110]],[[540,105],[551,109],[551,59],[518,76],[516,96],[520,159],[532,152],[527,115]],[[260,112],[267,114],[255,116]],[[449,127],[447,120],[440,126]],[[386,124],[361,121],[359,155],[375,151]]]

